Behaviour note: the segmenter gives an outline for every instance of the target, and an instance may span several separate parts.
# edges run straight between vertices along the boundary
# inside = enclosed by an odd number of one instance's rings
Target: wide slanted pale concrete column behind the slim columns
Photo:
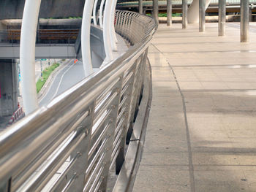
[[[206,9],[211,0],[206,0]],[[188,9],[188,23],[199,23],[199,0],[192,1]]]

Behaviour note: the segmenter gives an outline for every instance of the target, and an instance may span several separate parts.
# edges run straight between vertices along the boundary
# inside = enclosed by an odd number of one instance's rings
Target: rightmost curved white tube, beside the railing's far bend
[[[116,31],[115,31],[115,15],[116,15],[116,2],[117,0],[113,0],[112,4],[111,4],[111,9],[110,9],[110,42],[111,42],[111,47],[112,50],[116,51],[117,47],[116,47]]]

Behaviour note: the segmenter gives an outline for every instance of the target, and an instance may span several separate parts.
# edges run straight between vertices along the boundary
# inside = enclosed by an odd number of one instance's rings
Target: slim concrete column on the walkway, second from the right
[[[225,36],[226,0],[219,0],[219,36]]]

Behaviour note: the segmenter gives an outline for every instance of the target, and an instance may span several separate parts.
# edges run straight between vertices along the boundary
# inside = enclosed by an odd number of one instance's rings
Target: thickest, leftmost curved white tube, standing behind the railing
[[[20,34],[20,76],[26,115],[37,110],[35,46],[41,0],[26,0]]]

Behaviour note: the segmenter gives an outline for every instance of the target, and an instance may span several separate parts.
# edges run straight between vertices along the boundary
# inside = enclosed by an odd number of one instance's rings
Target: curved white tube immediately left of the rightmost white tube
[[[111,9],[111,0],[106,0],[105,4],[105,11],[103,16],[103,41],[104,41],[104,48],[105,48],[105,54],[106,58],[104,60],[104,63],[108,63],[113,60],[113,54],[111,49],[111,42],[110,42],[110,24],[111,24],[111,12],[109,11]]]

